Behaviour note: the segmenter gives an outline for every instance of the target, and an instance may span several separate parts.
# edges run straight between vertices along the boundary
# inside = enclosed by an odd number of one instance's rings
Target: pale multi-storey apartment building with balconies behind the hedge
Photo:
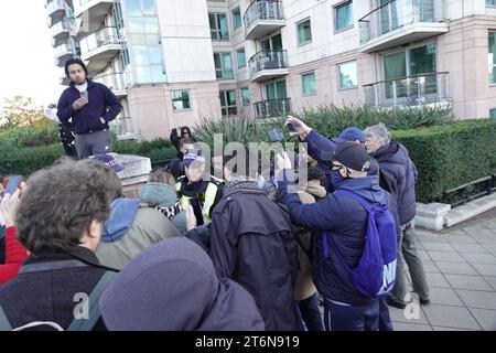
[[[495,0],[48,0],[56,64],[80,56],[122,137],[321,104],[496,117]]]

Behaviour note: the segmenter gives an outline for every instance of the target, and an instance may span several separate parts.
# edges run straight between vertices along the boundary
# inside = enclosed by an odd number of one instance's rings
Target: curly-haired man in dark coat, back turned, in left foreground
[[[65,160],[28,181],[15,224],[31,256],[19,276],[0,287],[0,311],[10,324],[2,325],[0,315],[0,330],[66,330],[76,322],[105,330],[89,308],[97,284],[111,277],[94,252],[115,191],[110,169],[95,163],[101,162]]]

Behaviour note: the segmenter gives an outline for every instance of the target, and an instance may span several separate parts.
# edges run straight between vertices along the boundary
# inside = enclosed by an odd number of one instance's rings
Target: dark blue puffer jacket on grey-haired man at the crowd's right
[[[410,222],[416,216],[416,182],[419,173],[407,148],[392,141],[378,149],[374,158],[379,162],[380,169],[396,179],[400,223]]]

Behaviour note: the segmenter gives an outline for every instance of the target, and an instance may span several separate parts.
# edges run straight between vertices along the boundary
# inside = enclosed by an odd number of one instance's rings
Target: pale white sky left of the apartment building
[[[56,103],[64,89],[43,0],[0,1],[0,108],[22,95],[37,105]]]

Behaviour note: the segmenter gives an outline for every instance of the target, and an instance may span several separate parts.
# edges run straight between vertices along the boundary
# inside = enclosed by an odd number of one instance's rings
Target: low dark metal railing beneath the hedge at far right
[[[496,174],[484,176],[457,188],[446,190],[443,192],[440,202],[456,207],[472,200],[490,195],[494,191],[496,191]]]

